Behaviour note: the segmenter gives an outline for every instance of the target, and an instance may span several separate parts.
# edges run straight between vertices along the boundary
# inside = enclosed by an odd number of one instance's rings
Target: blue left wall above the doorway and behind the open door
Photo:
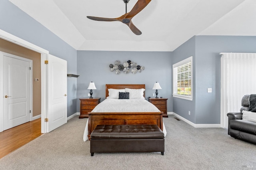
[[[76,50],[8,0],[0,0],[0,29],[68,61],[76,74]],[[68,116],[76,113],[76,78],[68,78]]]

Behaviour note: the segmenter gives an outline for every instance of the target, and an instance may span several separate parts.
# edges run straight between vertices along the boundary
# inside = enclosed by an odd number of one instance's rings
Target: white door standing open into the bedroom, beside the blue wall
[[[67,61],[48,56],[48,132],[67,123]]]

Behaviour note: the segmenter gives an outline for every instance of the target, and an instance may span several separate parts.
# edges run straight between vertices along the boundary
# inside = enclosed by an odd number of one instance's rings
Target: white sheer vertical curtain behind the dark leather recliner
[[[228,128],[229,112],[239,112],[244,95],[256,94],[256,53],[220,53],[221,126]]]

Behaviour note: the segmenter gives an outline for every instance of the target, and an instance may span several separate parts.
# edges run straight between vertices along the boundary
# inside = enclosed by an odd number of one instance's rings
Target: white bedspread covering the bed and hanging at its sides
[[[105,99],[92,112],[160,112],[157,107],[145,99]],[[163,123],[163,132],[166,129]],[[88,120],[84,130],[84,141],[88,140]]]

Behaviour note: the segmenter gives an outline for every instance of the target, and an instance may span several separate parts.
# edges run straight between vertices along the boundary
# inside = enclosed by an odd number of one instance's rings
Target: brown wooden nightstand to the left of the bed
[[[93,99],[79,99],[80,100],[80,116],[79,119],[88,117],[88,112],[92,111],[95,106],[100,103],[101,98],[93,98]]]

